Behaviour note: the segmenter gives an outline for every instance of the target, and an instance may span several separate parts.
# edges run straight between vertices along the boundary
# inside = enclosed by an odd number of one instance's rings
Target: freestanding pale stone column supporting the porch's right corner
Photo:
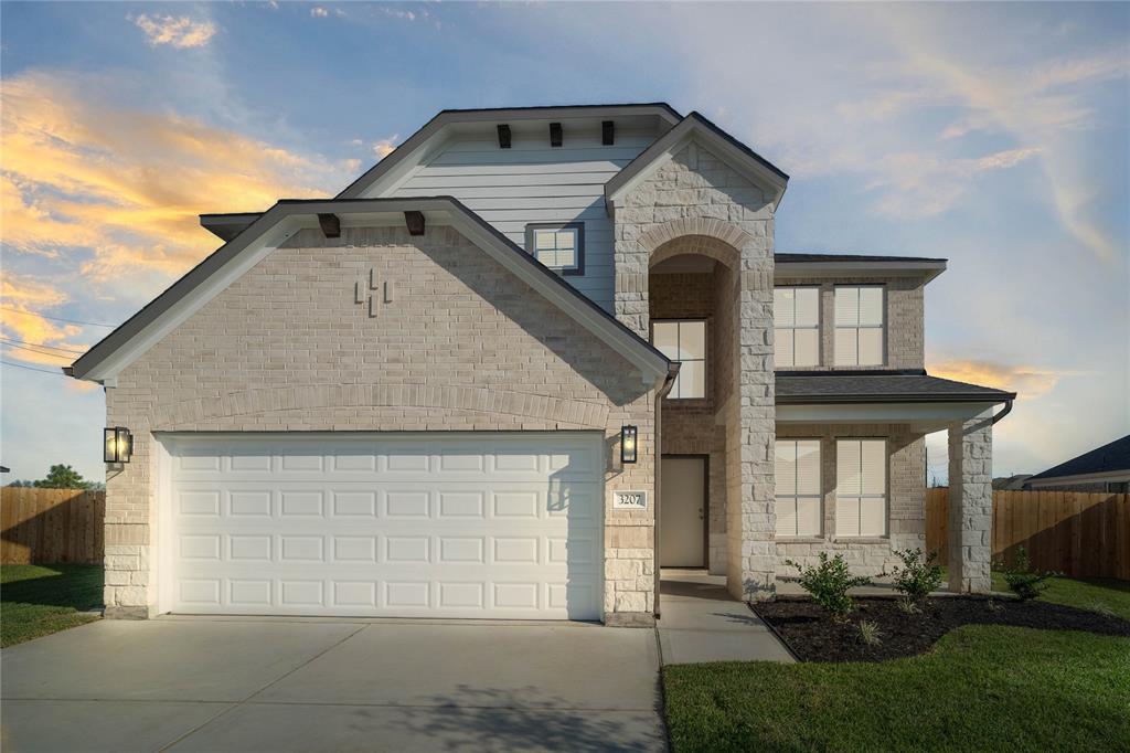
[[[992,590],[992,410],[949,425],[949,589]]]

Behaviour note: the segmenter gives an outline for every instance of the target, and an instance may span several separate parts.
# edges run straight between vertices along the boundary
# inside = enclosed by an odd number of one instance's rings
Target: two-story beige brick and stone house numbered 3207
[[[666,104],[444,111],[332,199],[202,216],[225,244],[68,369],[107,615],[650,624],[663,566],[771,598],[924,545],[938,430],[950,588],[988,589],[1014,395],[924,372],[945,260],[776,253],[788,180]]]

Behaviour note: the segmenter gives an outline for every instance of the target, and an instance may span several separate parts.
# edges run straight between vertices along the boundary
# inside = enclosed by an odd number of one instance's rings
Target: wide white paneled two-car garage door
[[[162,441],[162,609],[600,616],[598,434]]]

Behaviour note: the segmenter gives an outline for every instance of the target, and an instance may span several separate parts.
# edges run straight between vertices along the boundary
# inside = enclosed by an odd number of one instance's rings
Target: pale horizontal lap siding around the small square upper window
[[[514,133],[510,149],[493,139],[454,139],[416,167],[391,197],[453,196],[511,241],[525,248],[530,223],[584,223],[584,274],[564,279],[612,310],[612,220],[605,183],[654,140],[654,133],[617,130],[616,144],[600,133],[571,133],[550,147],[540,137]]]

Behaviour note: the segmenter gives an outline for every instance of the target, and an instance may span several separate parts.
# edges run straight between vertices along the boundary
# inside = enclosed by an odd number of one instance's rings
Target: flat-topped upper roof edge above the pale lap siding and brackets
[[[419,162],[420,155],[429,144],[436,141],[445,129],[470,123],[505,123],[522,120],[574,118],[616,119],[625,116],[653,115],[661,122],[673,127],[681,115],[666,102],[644,104],[610,104],[610,105],[565,105],[546,107],[495,107],[484,110],[443,110],[426,122],[386,155],[381,162],[370,167],[357,180],[347,185],[337,198],[355,199],[365,194],[374,184],[390,174],[406,168],[408,164]]]

